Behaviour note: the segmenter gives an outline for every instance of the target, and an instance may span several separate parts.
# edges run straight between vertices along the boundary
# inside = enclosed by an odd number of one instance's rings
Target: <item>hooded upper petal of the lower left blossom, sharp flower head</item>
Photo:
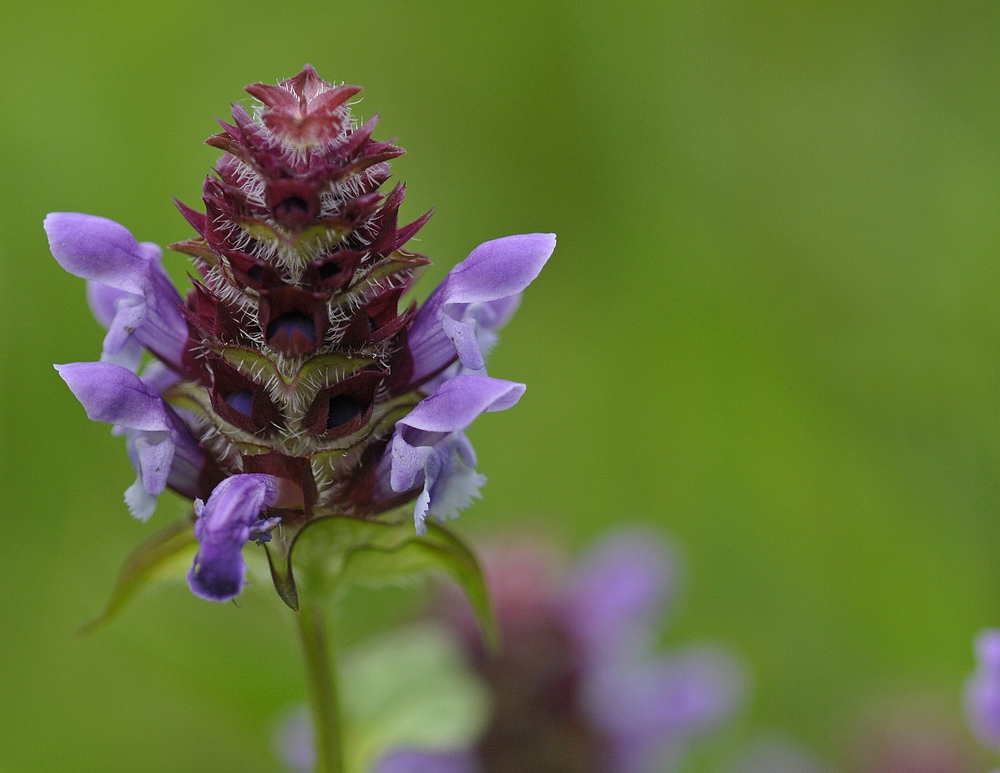
[[[73,362],[55,369],[91,421],[127,429],[170,429],[163,398],[127,368],[110,362]]]

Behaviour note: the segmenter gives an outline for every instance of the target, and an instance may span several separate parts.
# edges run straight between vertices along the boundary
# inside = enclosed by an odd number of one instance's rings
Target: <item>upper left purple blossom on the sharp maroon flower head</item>
[[[45,231],[53,256],[66,271],[124,294],[115,298],[106,290],[95,297],[90,292],[95,316],[109,329],[105,353],[114,357],[134,335],[142,346],[179,368],[187,324],[181,297],[160,265],[159,247],[138,243],[113,220],[74,212],[51,213],[45,218]]]

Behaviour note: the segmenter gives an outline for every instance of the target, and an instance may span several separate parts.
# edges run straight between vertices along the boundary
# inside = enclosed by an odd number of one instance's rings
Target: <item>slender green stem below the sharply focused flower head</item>
[[[333,651],[327,646],[319,604],[311,599],[301,601],[297,618],[302,655],[306,661],[309,702],[316,728],[316,771],[343,773],[344,747]]]

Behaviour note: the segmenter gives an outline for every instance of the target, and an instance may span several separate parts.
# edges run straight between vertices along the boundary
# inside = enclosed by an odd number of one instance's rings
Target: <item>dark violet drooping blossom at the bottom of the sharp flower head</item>
[[[240,594],[247,569],[243,545],[261,512],[277,499],[274,477],[249,474],[226,478],[207,504],[197,503],[198,554],[187,576],[192,593],[208,601],[229,601]]]

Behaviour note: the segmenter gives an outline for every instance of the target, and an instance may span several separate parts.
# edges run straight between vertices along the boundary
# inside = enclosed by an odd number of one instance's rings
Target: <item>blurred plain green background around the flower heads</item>
[[[186,238],[170,196],[198,202],[214,117],[305,62],[408,150],[404,214],[437,206],[423,294],[481,241],[559,235],[492,359],[529,390],[472,430],[490,484],[461,530],[670,534],[664,641],[753,673],[717,743],[778,732],[849,770],[879,707],[960,722],[1000,624],[1000,5],[0,9],[0,770],[279,769],[303,686],[264,593],[167,587],[73,636],[182,504],[129,518],[123,444],[52,370],[102,331],[41,222]],[[412,605],[356,597],[345,640]]]

